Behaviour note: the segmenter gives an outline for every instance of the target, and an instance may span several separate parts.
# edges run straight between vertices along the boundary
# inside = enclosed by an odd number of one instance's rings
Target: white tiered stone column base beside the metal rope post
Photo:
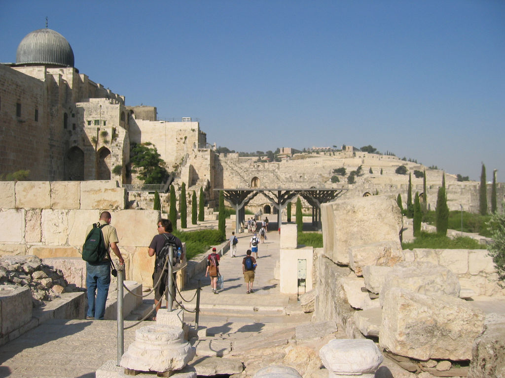
[[[123,354],[120,365],[140,371],[180,370],[195,355],[195,349],[183,336],[179,327],[158,324],[142,327],[135,332],[135,341]]]

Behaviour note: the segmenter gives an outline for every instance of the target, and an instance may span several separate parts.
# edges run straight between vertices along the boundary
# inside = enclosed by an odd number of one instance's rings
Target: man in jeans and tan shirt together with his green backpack
[[[118,234],[111,226],[111,213],[100,214],[97,223],[86,230],[86,241],[82,246],[82,259],[86,261],[86,287],[88,294],[88,312],[86,319],[103,320],[105,304],[111,284],[111,256],[109,247],[118,257],[119,263],[124,264],[123,256],[118,248]],[[95,298],[96,293],[96,298]]]

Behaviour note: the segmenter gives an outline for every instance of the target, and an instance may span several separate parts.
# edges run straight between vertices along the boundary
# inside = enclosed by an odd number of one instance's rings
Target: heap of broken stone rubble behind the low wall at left
[[[60,298],[63,292],[80,291],[69,286],[61,270],[42,264],[42,260],[33,255],[0,257],[1,284],[28,287],[34,307],[41,305],[43,300]]]

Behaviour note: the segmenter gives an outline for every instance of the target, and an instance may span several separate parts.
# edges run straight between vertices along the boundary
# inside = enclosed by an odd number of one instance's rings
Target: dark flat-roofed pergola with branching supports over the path
[[[277,224],[282,224],[282,209],[294,197],[301,196],[312,206],[312,222],[321,222],[321,204],[330,202],[338,198],[346,189],[293,189],[293,188],[237,188],[237,189],[215,189],[223,191],[224,199],[235,208],[235,233],[239,231],[240,223],[245,221],[245,206],[260,193],[272,201],[277,209]]]

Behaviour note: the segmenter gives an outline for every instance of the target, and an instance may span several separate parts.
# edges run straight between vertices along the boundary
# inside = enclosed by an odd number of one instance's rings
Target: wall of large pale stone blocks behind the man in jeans
[[[112,214],[126,278],[151,285],[147,247],[160,213],[124,210],[125,190],[111,181],[0,182],[0,255],[81,256],[87,226]]]

